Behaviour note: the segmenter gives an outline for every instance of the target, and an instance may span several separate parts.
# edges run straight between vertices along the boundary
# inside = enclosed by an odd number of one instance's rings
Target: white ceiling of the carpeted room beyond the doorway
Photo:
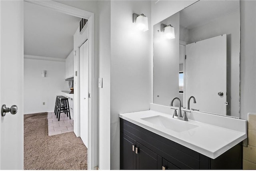
[[[24,2],[24,55],[66,58],[80,18]]]

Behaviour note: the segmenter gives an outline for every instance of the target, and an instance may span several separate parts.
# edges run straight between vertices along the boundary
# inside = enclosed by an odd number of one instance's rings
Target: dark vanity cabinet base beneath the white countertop
[[[120,169],[242,169],[242,145],[211,159],[120,118]]]

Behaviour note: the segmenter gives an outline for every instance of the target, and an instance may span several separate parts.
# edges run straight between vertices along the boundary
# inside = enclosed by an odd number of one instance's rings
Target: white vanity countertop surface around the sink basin
[[[119,117],[212,159],[220,156],[222,153],[234,147],[247,137],[247,133],[243,131],[227,129],[193,120],[181,121],[179,119],[175,119],[177,122],[188,122],[198,126],[188,131],[176,132],[141,119],[157,115],[174,119],[170,114],[153,110],[123,113],[120,114]],[[244,124],[246,122],[241,123]]]

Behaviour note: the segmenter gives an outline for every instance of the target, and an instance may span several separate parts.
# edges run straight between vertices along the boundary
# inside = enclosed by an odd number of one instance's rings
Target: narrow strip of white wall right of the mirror
[[[241,1],[240,118],[256,113],[256,1]]]

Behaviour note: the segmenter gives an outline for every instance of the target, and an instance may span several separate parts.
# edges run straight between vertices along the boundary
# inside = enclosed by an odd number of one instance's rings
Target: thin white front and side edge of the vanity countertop
[[[150,126],[147,126],[147,125],[144,125],[142,123],[139,123],[135,120],[132,120],[130,118],[127,118],[125,116],[123,116],[122,114],[119,115],[120,118],[126,120],[126,121],[129,121],[131,123],[134,123],[135,125],[138,125],[144,129],[147,129],[148,131],[151,131],[153,133],[156,133],[162,137],[165,137],[167,139],[170,139],[171,141],[174,141],[180,145],[183,145],[185,147],[188,147],[189,149],[192,149],[198,153],[201,153],[207,157],[210,157],[212,159],[216,159],[218,156],[222,155],[224,152],[228,151],[229,149],[231,149],[232,147],[234,147],[235,145],[237,145],[238,143],[240,143],[241,141],[243,141],[244,139],[247,138],[247,134],[244,133],[242,136],[240,136],[238,139],[236,139],[235,141],[232,141],[231,143],[229,143],[228,145],[225,145],[224,147],[218,149],[217,151],[208,151],[207,149],[203,149],[201,147],[198,147],[194,144],[191,144],[189,142],[186,142],[186,141],[183,141],[182,139],[178,139],[176,137],[173,137],[172,135],[169,135],[167,133],[164,133],[162,131],[159,131],[157,129],[154,129],[153,127],[150,127]]]

